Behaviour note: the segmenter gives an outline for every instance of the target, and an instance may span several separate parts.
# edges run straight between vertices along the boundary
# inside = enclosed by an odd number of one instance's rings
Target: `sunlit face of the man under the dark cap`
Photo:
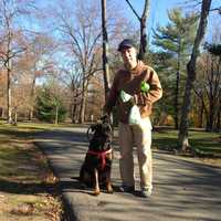
[[[137,51],[135,48],[122,49],[120,54],[127,69],[131,70],[137,66]]]

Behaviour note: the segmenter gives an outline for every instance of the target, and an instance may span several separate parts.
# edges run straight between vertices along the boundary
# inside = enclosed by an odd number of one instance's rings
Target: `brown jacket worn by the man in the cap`
[[[143,81],[150,85],[147,93],[140,92]],[[133,99],[123,103],[119,97],[122,90],[130,94]],[[109,114],[116,105],[118,119],[127,124],[129,110],[134,104],[139,107],[141,117],[146,117],[151,114],[152,104],[161,96],[162,90],[157,73],[138,61],[138,65],[133,71],[119,70],[116,73],[104,110]]]

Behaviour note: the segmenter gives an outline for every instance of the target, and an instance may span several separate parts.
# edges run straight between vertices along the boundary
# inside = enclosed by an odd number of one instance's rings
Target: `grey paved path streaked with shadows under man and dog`
[[[112,175],[115,193],[94,197],[92,190],[83,190],[71,178],[78,176],[87,150],[85,131],[86,128],[63,128],[36,138],[61,179],[70,220],[221,221],[221,169],[177,156],[154,152],[154,193],[149,199],[117,191],[120,185],[117,146]]]

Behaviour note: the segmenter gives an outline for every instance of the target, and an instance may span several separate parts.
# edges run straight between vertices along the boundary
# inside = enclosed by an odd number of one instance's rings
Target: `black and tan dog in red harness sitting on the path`
[[[101,119],[102,123],[92,125],[87,130],[90,146],[80,171],[80,181],[87,187],[93,187],[95,196],[99,194],[101,185],[105,185],[107,192],[113,193],[110,183],[112,127],[107,116]]]

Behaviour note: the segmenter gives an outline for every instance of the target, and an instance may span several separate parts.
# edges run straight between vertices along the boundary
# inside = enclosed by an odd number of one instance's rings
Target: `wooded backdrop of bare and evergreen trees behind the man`
[[[179,129],[182,149],[189,146],[189,127],[219,133],[220,23],[212,22],[210,38],[206,35],[210,14],[220,19],[221,6],[213,8],[211,0],[182,1],[188,12],[185,7],[168,11],[167,25],[158,25],[149,41],[154,2],[144,1],[140,12],[133,1],[125,2],[139,25],[130,24],[125,9],[104,0],[54,0],[41,8],[34,0],[0,0],[0,117],[9,124],[96,120],[122,65],[117,44],[133,38],[140,42],[139,57],[154,66],[164,88],[154,125]]]

